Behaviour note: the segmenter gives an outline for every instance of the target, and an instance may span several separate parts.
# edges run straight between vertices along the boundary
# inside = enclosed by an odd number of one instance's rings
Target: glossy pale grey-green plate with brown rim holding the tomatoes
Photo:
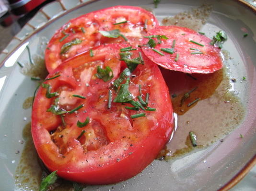
[[[2,191],[37,190],[37,174],[40,168],[23,168],[29,179],[17,181],[15,170],[21,160],[27,159],[34,165],[35,152],[25,145],[27,139],[24,127],[30,122],[31,110],[23,109],[26,98],[33,96],[36,82],[21,73],[17,61],[29,65],[30,47],[32,58],[43,62],[47,41],[61,25],[71,18],[90,11],[114,5],[141,6],[153,9],[161,21],[166,16],[198,7],[203,0],[162,0],[154,9],[152,0],[61,0],[41,9],[19,32],[0,54],[0,184]],[[233,132],[209,147],[186,156],[165,161],[154,160],[137,176],[115,185],[87,186],[88,191],[214,191],[228,190],[242,179],[256,164],[256,19],[255,8],[240,0],[211,0],[213,12],[202,31],[212,36],[218,30],[228,34],[224,49],[230,57],[225,62],[230,76],[244,82],[233,83],[231,91],[238,96],[246,110],[242,123]],[[58,13],[58,14],[56,14]],[[248,33],[246,38],[244,32]],[[243,138],[240,138],[240,134]],[[25,141],[25,142],[24,142]],[[28,154],[23,156],[23,150]],[[145,156],[146,157],[146,156]],[[19,167],[20,168],[20,167]],[[22,170],[22,169],[20,169]],[[22,176],[22,174],[19,174]],[[28,177],[27,177],[28,178]],[[31,183],[31,181],[33,183]]]

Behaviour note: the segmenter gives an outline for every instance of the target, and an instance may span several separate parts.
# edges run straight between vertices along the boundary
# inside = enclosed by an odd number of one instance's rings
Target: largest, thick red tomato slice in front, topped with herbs
[[[33,105],[32,136],[39,157],[49,170],[58,170],[60,177],[88,184],[126,180],[151,163],[170,138],[173,108],[168,88],[158,66],[143,53],[145,64],[133,71],[128,90],[137,101],[141,86],[142,98],[149,93],[148,106],[156,111],[134,111],[126,108],[131,104],[113,101],[108,108],[109,90],[112,100],[117,95],[112,83],[127,67],[119,60],[120,48],[126,46],[101,45],[93,49],[93,57],[86,52],[61,64],[47,78],[58,77],[44,82],[50,85],[50,93],[58,92],[52,98],[46,97],[47,88],[39,88]],[[139,51],[131,52],[133,58],[138,57]],[[97,66],[109,66],[114,77],[107,82],[99,79],[95,76]],[[53,105],[58,111],[81,108],[63,114],[62,121],[60,115],[47,112]],[[142,112],[146,117],[131,118]],[[87,117],[90,122],[78,127],[78,120],[84,122]]]

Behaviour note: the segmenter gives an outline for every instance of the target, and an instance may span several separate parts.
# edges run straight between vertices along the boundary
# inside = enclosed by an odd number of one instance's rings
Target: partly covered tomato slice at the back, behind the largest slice
[[[127,22],[115,24],[122,21]],[[151,12],[132,6],[109,7],[72,19],[55,32],[47,46],[47,70],[52,72],[62,61],[94,46],[125,41],[122,37],[105,37],[99,31],[119,29],[128,43],[137,45],[148,30],[158,25]],[[73,45],[69,46],[70,44]],[[62,48],[65,46],[66,48]]]

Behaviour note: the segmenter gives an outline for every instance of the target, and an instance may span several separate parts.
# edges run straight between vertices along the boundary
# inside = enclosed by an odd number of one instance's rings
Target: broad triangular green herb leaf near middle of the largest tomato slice
[[[132,94],[129,92],[128,87],[130,83],[130,78],[126,79],[126,83],[120,86],[120,89],[117,93],[116,98],[114,99],[115,103],[126,103],[133,100]]]

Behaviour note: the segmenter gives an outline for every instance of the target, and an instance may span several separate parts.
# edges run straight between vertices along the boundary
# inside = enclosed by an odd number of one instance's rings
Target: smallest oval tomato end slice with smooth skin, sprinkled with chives
[[[202,34],[198,34],[185,27],[160,26],[149,31],[147,36],[150,35],[165,35],[168,38],[161,39],[162,43],[156,44],[154,47],[155,50],[163,55],[155,52],[149,46],[142,47],[143,52],[151,61],[166,69],[185,73],[207,74],[222,68],[220,49],[210,45],[209,42],[211,40]],[[158,42],[157,39],[154,38],[154,40]],[[172,49],[174,40],[174,53],[163,52],[163,49]],[[144,38],[143,44],[146,44],[148,41],[148,38]],[[190,41],[198,42],[203,46]]]

